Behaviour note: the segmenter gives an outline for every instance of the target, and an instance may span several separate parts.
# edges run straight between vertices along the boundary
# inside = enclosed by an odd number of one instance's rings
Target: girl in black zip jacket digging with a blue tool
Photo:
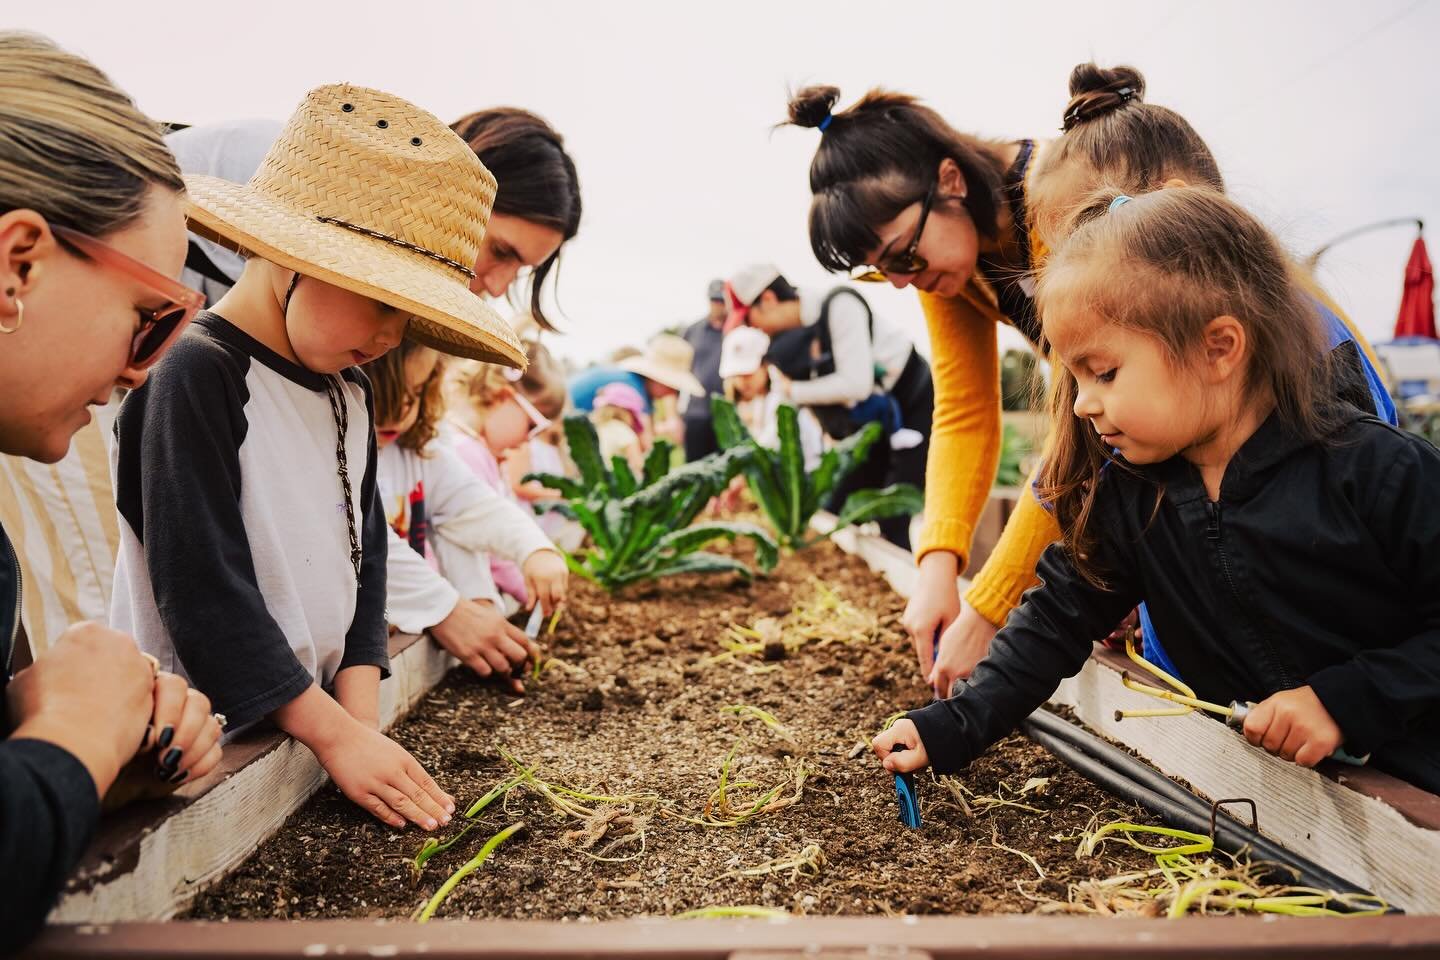
[[[1440,452],[1329,400],[1313,304],[1233,201],[1079,219],[1038,291],[1064,540],[969,681],[874,740],[884,766],[963,767],[1145,600],[1200,698],[1259,704],[1251,744],[1440,792]]]

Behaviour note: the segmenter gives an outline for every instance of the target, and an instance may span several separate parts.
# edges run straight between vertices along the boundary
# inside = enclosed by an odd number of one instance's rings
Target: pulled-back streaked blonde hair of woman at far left
[[[160,127],[89,60],[0,32],[0,213],[105,236],[143,213],[153,184],[184,190]]]

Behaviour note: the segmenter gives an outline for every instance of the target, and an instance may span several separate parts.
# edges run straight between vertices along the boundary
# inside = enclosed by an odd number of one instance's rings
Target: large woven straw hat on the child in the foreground
[[[413,104],[312,89],[249,183],[186,177],[190,229],[415,317],[436,350],[524,367],[514,331],[469,291],[495,178]]]

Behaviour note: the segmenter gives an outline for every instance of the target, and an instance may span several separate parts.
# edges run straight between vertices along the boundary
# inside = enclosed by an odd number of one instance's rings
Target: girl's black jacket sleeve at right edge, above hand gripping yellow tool
[[[1309,678],[1344,731],[1345,748],[1356,754],[1405,735],[1440,704],[1440,450],[1400,430],[1387,436],[1374,459],[1390,468],[1365,520],[1408,584],[1417,629]]]

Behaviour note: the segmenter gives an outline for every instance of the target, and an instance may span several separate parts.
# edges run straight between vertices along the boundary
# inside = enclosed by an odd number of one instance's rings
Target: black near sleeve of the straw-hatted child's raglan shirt
[[[115,499],[143,547],[160,623],[190,682],[232,727],[314,682],[265,603],[240,511],[243,364],[181,337],[115,423]]]

